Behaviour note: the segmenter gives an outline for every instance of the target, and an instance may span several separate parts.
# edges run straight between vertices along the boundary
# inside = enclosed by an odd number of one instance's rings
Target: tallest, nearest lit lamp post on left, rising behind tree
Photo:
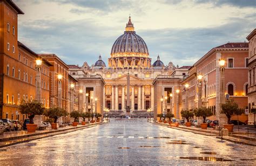
[[[36,60],[36,100],[41,102],[41,66],[42,60]]]

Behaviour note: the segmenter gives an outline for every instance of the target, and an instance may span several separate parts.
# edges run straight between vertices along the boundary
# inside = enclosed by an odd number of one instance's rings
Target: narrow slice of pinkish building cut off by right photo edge
[[[249,41],[249,59],[248,59],[248,124],[254,124],[254,114],[252,108],[256,103],[256,78],[255,78],[255,67],[256,67],[256,29],[254,29],[246,38]]]

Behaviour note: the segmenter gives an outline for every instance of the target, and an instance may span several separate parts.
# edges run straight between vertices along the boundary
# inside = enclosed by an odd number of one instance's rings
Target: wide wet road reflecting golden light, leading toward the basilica
[[[104,125],[2,148],[0,154],[0,165],[256,163],[255,147],[153,125],[145,119],[111,119]]]

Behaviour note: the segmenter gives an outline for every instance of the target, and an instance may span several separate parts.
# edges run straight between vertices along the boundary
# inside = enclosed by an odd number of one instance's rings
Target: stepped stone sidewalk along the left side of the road
[[[105,123],[106,122],[103,121],[103,122],[96,122],[93,124],[78,125],[76,127],[66,126],[66,127],[59,127],[58,129],[37,130],[36,132],[31,132],[31,133],[27,131],[5,132],[3,136],[0,135],[0,148],[15,145],[17,143],[29,142],[32,140],[41,139],[48,136],[73,132],[79,129],[90,128],[97,125],[103,125]]]

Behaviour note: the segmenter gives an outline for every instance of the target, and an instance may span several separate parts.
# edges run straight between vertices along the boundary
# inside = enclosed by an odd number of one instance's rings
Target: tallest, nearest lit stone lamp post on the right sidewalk
[[[220,65],[220,109],[216,114],[217,119],[219,120],[219,129],[221,125],[226,123],[226,116],[225,114],[221,113],[221,104],[225,102],[225,59],[220,58],[219,59],[219,65]]]

